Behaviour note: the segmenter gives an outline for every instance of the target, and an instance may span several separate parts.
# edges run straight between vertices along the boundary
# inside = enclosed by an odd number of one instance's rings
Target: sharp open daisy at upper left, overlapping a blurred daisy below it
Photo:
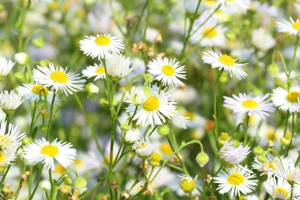
[[[33,69],[33,79],[44,87],[51,87],[51,90],[63,91],[66,95],[73,94],[80,89],[84,88],[84,79],[80,79],[78,73],[68,71],[67,67],[63,69],[61,66],[54,67],[53,63],[49,63],[47,66],[38,66],[37,69]]]

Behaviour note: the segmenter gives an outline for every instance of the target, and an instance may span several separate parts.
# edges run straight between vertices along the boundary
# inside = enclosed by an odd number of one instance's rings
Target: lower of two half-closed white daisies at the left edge
[[[4,90],[0,93],[0,106],[6,114],[13,113],[23,101],[21,95],[14,92],[14,90],[10,90],[9,93]]]

